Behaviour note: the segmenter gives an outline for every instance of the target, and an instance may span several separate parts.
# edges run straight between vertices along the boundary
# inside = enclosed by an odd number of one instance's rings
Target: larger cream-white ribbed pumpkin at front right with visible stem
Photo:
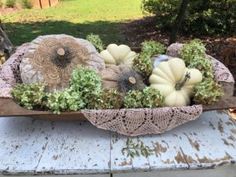
[[[161,62],[149,78],[151,87],[165,97],[166,106],[189,105],[193,87],[201,81],[202,73],[198,69],[186,68],[179,58]]]

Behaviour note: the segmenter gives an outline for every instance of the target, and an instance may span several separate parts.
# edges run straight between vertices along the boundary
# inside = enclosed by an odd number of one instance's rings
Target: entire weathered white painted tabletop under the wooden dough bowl
[[[88,122],[0,119],[0,176],[236,177],[235,162],[236,122],[224,112],[136,138]]]

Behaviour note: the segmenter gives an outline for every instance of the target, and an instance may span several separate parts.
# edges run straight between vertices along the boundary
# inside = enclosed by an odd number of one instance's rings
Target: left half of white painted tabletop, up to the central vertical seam
[[[0,118],[0,173],[109,173],[110,132],[88,122]]]

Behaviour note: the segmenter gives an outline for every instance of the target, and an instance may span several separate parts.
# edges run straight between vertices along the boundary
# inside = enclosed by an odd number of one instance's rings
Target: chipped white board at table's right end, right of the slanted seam
[[[225,113],[205,113],[182,127],[182,156],[189,168],[207,168],[236,161],[236,122]],[[183,142],[185,142],[183,144]]]

